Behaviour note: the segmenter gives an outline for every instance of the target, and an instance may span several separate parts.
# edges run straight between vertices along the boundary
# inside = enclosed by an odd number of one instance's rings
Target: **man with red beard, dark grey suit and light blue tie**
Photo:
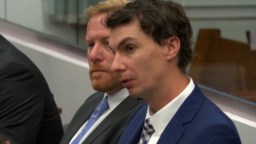
[[[115,144],[131,115],[142,105],[141,98],[131,98],[116,73],[110,71],[114,53],[109,49],[110,29],[105,18],[129,1],[108,0],[85,10],[90,19],[86,43],[92,87],[91,95],[71,120],[61,144]]]

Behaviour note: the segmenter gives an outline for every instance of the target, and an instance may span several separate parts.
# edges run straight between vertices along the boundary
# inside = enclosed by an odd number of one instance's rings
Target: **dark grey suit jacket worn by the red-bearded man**
[[[80,127],[90,118],[103,96],[104,93],[97,92],[84,102],[71,120],[61,139],[61,144],[70,142]],[[142,98],[128,96],[96,127],[83,144],[116,144],[129,118],[142,104],[145,104]]]

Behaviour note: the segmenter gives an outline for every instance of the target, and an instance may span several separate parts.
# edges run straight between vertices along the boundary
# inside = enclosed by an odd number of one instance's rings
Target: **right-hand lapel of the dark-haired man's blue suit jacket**
[[[161,134],[158,144],[168,143],[177,144],[184,134],[183,124],[193,120],[194,116],[205,101],[205,96],[195,83],[192,93],[183,102],[179,110],[175,113],[171,121]]]

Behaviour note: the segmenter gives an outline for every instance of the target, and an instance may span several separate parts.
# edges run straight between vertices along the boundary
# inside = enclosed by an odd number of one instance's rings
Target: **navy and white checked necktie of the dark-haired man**
[[[144,123],[143,131],[141,134],[141,138],[139,140],[139,144],[147,144],[154,132],[155,130],[150,123],[150,118],[146,119]]]

